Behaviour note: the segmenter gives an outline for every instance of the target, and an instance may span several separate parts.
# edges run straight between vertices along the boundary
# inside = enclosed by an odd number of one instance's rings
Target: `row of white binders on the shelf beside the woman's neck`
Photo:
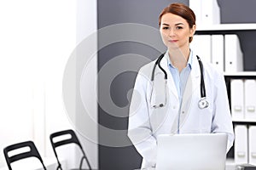
[[[219,71],[243,71],[243,53],[236,34],[195,35],[190,48]]]

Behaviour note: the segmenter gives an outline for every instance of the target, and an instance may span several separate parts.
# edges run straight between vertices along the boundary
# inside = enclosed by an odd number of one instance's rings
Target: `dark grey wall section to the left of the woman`
[[[119,23],[138,23],[146,26],[152,26],[155,29],[158,28],[158,16],[162,8],[166,7],[170,3],[176,1],[153,1],[153,0],[98,0],[98,28],[106,28],[106,26],[113,26]],[[188,4],[188,1],[177,1]],[[101,35],[99,34],[98,41],[99,46],[102,47],[102,43],[106,42],[108,38],[113,38],[117,34],[122,35],[125,30],[117,30],[113,35]],[[131,33],[132,34],[132,33]],[[155,35],[148,34],[148,37]],[[162,44],[159,37],[153,38],[153,41],[160,44],[160,49],[148,46],[148,44],[143,44],[143,42],[113,42],[104,48],[100,48],[98,52],[98,71],[102,71],[104,66],[112,62],[112,59],[117,59],[122,54],[138,54],[144,56],[148,60],[155,59],[162,53],[166,48]],[[129,57],[129,56],[127,56]],[[138,70],[143,64],[146,64],[148,60],[137,64],[136,69]],[[127,63],[118,63],[116,67],[125,67]],[[114,70],[115,68],[113,68]],[[109,73],[111,74],[111,73]],[[108,135],[108,132],[99,128],[99,167],[101,170],[131,170],[140,167],[142,157],[137,153],[134,146],[131,144],[130,140],[126,136],[126,129],[128,123],[128,106],[131,99],[130,90],[133,88],[135,78],[137,76],[137,71],[124,71],[117,75],[110,88],[106,88],[106,82],[108,78],[112,75],[99,74],[99,98],[109,100],[108,94],[110,94],[110,99],[113,101],[114,105],[117,105],[123,110],[119,111],[119,116],[113,116],[112,113],[106,111],[99,105],[99,127],[106,127],[115,131],[124,130],[123,133],[116,135]],[[104,102],[102,101],[102,102]],[[129,144],[123,147],[108,146],[108,142],[119,141],[119,144],[124,141]]]

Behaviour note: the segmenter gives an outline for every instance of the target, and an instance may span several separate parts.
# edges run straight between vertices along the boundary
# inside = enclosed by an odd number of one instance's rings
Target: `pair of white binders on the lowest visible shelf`
[[[256,165],[256,126],[235,126],[235,162],[236,164]]]

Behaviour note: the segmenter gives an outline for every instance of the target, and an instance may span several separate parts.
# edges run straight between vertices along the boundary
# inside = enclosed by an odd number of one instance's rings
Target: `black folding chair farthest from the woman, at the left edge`
[[[9,156],[9,152],[12,150],[18,150],[24,147],[29,147],[30,150],[20,152],[18,154],[15,154],[14,156]],[[12,170],[11,163],[14,161],[19,161],[21,159],[25,159],[28,157],[37,157],[38,160],[41,162],[42,166],[44,167],[44,170],[46,170],[46,167],[44,166],[44,161],[42,157],[40,156],[38,149],[36,145],[32,141],[26,141],[26,142],[21,142],[18,144],[12,144],[3,149],[3,154],[5,156],[5,160],[7,162],[7,165],[9,167],[9,170]]]

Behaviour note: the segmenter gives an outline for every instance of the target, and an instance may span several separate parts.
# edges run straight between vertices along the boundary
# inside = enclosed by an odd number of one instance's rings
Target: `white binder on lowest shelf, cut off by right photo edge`
[[[256,126],[249,126],[249,164],[256,165]]]

